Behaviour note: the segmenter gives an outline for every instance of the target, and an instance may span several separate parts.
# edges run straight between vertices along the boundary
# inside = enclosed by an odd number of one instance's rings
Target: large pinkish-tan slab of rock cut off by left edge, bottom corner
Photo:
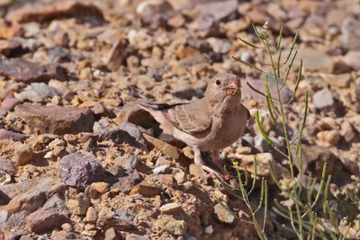
[[[25,219],[40,209],[49,196],[62,190],[65,185],[58,178],[42,176],[29,181],[0,185],[0,232],[6,229],[24,229]]]

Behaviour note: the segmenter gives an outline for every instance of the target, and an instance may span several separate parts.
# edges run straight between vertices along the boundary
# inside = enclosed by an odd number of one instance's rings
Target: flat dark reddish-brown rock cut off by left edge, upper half
[[[17,82],[45,82],[50,79],[66,80],[66,74],[58,64],[40,65],[24,58],[12,58],[0,61],[0,74]]]

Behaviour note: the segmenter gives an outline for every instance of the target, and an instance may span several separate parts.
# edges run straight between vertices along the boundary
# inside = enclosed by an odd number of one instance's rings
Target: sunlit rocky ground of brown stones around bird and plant
[[[161,134],[136,104],[201,98],[207,79],[232,72],[243,81],[243,103],[260,111],[266,132],[284,149],[265,99],[245,84],[264,89],[263,76],[231,58],[266,62],[264,51],[238,41],[255,40],[252,22],[268,21],[274,38],[284,25],[288,47],[301,30],[303,79],[287,108],[290,134],[298,134],[308,90],[303,170],[319,175],[328,162],[334,194],[356,187],[350,178],[360,174],[355,0],[5,0],[0,10],[0,239],[257,239],[244,204],[207,178],[190,149]],[[228,164],[251,164],[257,156],[266,177],[266,163],[275,160],[287,173],[288,163],[253,119],[221,156]],[[290,237],[271,226],[273,239]]]

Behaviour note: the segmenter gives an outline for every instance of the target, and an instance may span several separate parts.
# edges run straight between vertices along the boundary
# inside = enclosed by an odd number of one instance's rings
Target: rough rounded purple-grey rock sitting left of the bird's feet
[[[94,158],[70,154],[61,159],[59,174],[67,185],[85,190],[91,183],[101,182],[103,168]]]

